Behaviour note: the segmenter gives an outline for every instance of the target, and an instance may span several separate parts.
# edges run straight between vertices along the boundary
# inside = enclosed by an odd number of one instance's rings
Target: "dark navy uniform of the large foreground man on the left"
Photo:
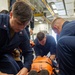
[[[12,57],[12,51],[18,47],[22,50],[22,55],[24,56],[24,67],[29,70],[33,59],[33,51],[27,33],[24,29],[15,33],[10,38],[9,29],[9,16],[0,14],[0,71],[16,74],[20,70],[18,64]]]

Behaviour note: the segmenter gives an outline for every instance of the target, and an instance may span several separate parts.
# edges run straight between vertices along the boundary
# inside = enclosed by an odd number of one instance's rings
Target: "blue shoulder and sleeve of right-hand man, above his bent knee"
[[[73,36],[73,35],[75,36],[75,21],[65,24],[65,26],[63,26],[59,38],[62,36]]]

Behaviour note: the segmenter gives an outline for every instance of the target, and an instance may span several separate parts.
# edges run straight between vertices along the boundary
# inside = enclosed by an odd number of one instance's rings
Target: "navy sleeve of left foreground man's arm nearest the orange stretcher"
[[[24,37],[22,38],[22,42],[19,47],[22,49],[22,53],[24,56],[24,66],[28,70],[30,70],[32,60],[33,60],[33,50],[30,46],[30,41],[26,32],[25,32]]]

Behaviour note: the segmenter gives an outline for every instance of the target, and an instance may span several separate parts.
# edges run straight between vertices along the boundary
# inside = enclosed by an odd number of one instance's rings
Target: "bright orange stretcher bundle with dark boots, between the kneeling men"
[[[38,56],[33,60],[28,75],[57,75],[53,68],[52,61],[47,56]]]

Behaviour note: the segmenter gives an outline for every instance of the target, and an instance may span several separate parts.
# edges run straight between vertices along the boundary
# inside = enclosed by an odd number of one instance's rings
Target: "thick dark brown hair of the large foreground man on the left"
[[[12,13],[21,23],[31,20],[32,17],[31,7],[24,1],[16,1],[12,5]]]

